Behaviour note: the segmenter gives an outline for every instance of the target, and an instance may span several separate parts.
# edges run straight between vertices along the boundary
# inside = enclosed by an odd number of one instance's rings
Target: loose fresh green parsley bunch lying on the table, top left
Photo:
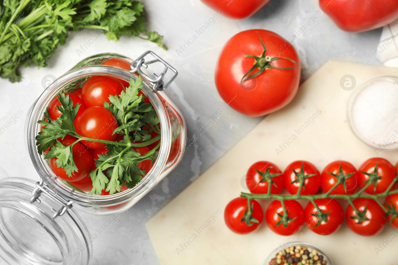
[[[145,28],[137,0],[0,0],[0,76],[21,80],[18,66],[47,66],[68,32],[97,29],[109,40],[122,34],[157,43],[163,37]]]

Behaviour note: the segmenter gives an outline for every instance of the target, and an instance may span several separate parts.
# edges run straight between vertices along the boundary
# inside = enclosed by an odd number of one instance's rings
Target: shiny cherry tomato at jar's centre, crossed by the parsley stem
[[[82,115],[76,117],[74,126],[76,132],[83,137],[115,141],[117,134],[112,133],[119,125],[109,110],[104,107],[93,106],[86,108]],[[105,143],[85,140],[81,143],[91,149],[106,148]]]

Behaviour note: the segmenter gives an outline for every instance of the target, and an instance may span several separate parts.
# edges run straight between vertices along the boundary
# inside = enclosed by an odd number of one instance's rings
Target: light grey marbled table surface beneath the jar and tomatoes
[[[296,35],[293,46],[302,64],[301,82],[305,81],[327,60],[343,60],[379,65],[375,49],[381,29],[365,33],[347,33],[323,14],[300,36],[295,30],[320,10],[317,0],[271,0],[250,18],[232,20],[219,17],[185,51],[176,49],[196,34],[215,14],[200,0],[142,0],[148,12],[148,26],[164,35],[168,50],[133,37],[122,37],[117,43],[107,41],[97,31],[85,30],[70,34],[49,60],[47,68],[23,68],[19,83],[0,80],[0,127],[10,121],[18,110],[23,114],[0,135],[1,178],[22,176],[38,180],[25,147],[25,120],[29,107],[43,91],[42,81],[48,75],[60,76],[87,56],[116,52],[137,58],[152,50],[178,69],[179,75],[166,94],[174,101],[187,120],[187,137],[191,138],[217,110],[222,115],[184,154],[178,167],[156,189],[150,191],[117,222],[94,241],[90,264],[159,264],[145,223],[159,209],[191,184],[202,172],[219,159],[248,133],[261,118],[246,117],[229,108],[219,97],[214,84],[214,70],[223,44],[234,34],[247,29],[267,29],[285,39]],[[96,36],[94,38],[94,36]],[[86,41],[97,39],[87,49]],[[90,41],[92,42],[92,41]],[[80,52],[79,52],[80,50]],[[217,176],[215,176],[217,177]],[[205,192],[205,191],[203,191]],[[90,231],[102,226],[109,217],[84,214]]]

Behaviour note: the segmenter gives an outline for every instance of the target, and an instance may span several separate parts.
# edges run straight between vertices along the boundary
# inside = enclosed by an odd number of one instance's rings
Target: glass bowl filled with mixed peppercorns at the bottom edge
[[[312,244],[292,242],[275,249],[264,265],[333,265],[329,257]]]

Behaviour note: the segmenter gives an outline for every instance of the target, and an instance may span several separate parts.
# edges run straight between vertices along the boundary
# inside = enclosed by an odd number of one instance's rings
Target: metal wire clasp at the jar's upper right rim
[[[148,54],[151,54],[155,59],[145,61],[144,57]],[[153,64],[155,62],[162,63],[164,65],[164,68],[163,68],[162,73],[160,73],[159,75],[157,75],[155,73],[152,74],[152,76],[154,78],[150,77],[149,75],[147,75],[145,72],[143,72],[140,69],[141,67],[148,68],[149,64]],[[163,79],[164,79],[168,69],[170,69],[172,72],[174,72],[174,74],[167,81],[167,83],[165,83],[165,81]],[[140,57],[138,57],[137,60],[135,60],[134,62],[131,63],[131,70],[129,72],[132,72],[132,73],[137,72],[138,74],[140,74],[142,77],[144,77],[147,81],[149,81],[151,83],[153,89],[159,90],[159,91],[163,91],[164,89],[166,89],[178,75],[178,72],[174,67],[170,66],[170,64],[168,64],[165,60],[163,60],[162,58],[160,58],[158,55],[156,55],[154,52],[152,52],[150,50],[144,52],[144,54],[142,54]]]

